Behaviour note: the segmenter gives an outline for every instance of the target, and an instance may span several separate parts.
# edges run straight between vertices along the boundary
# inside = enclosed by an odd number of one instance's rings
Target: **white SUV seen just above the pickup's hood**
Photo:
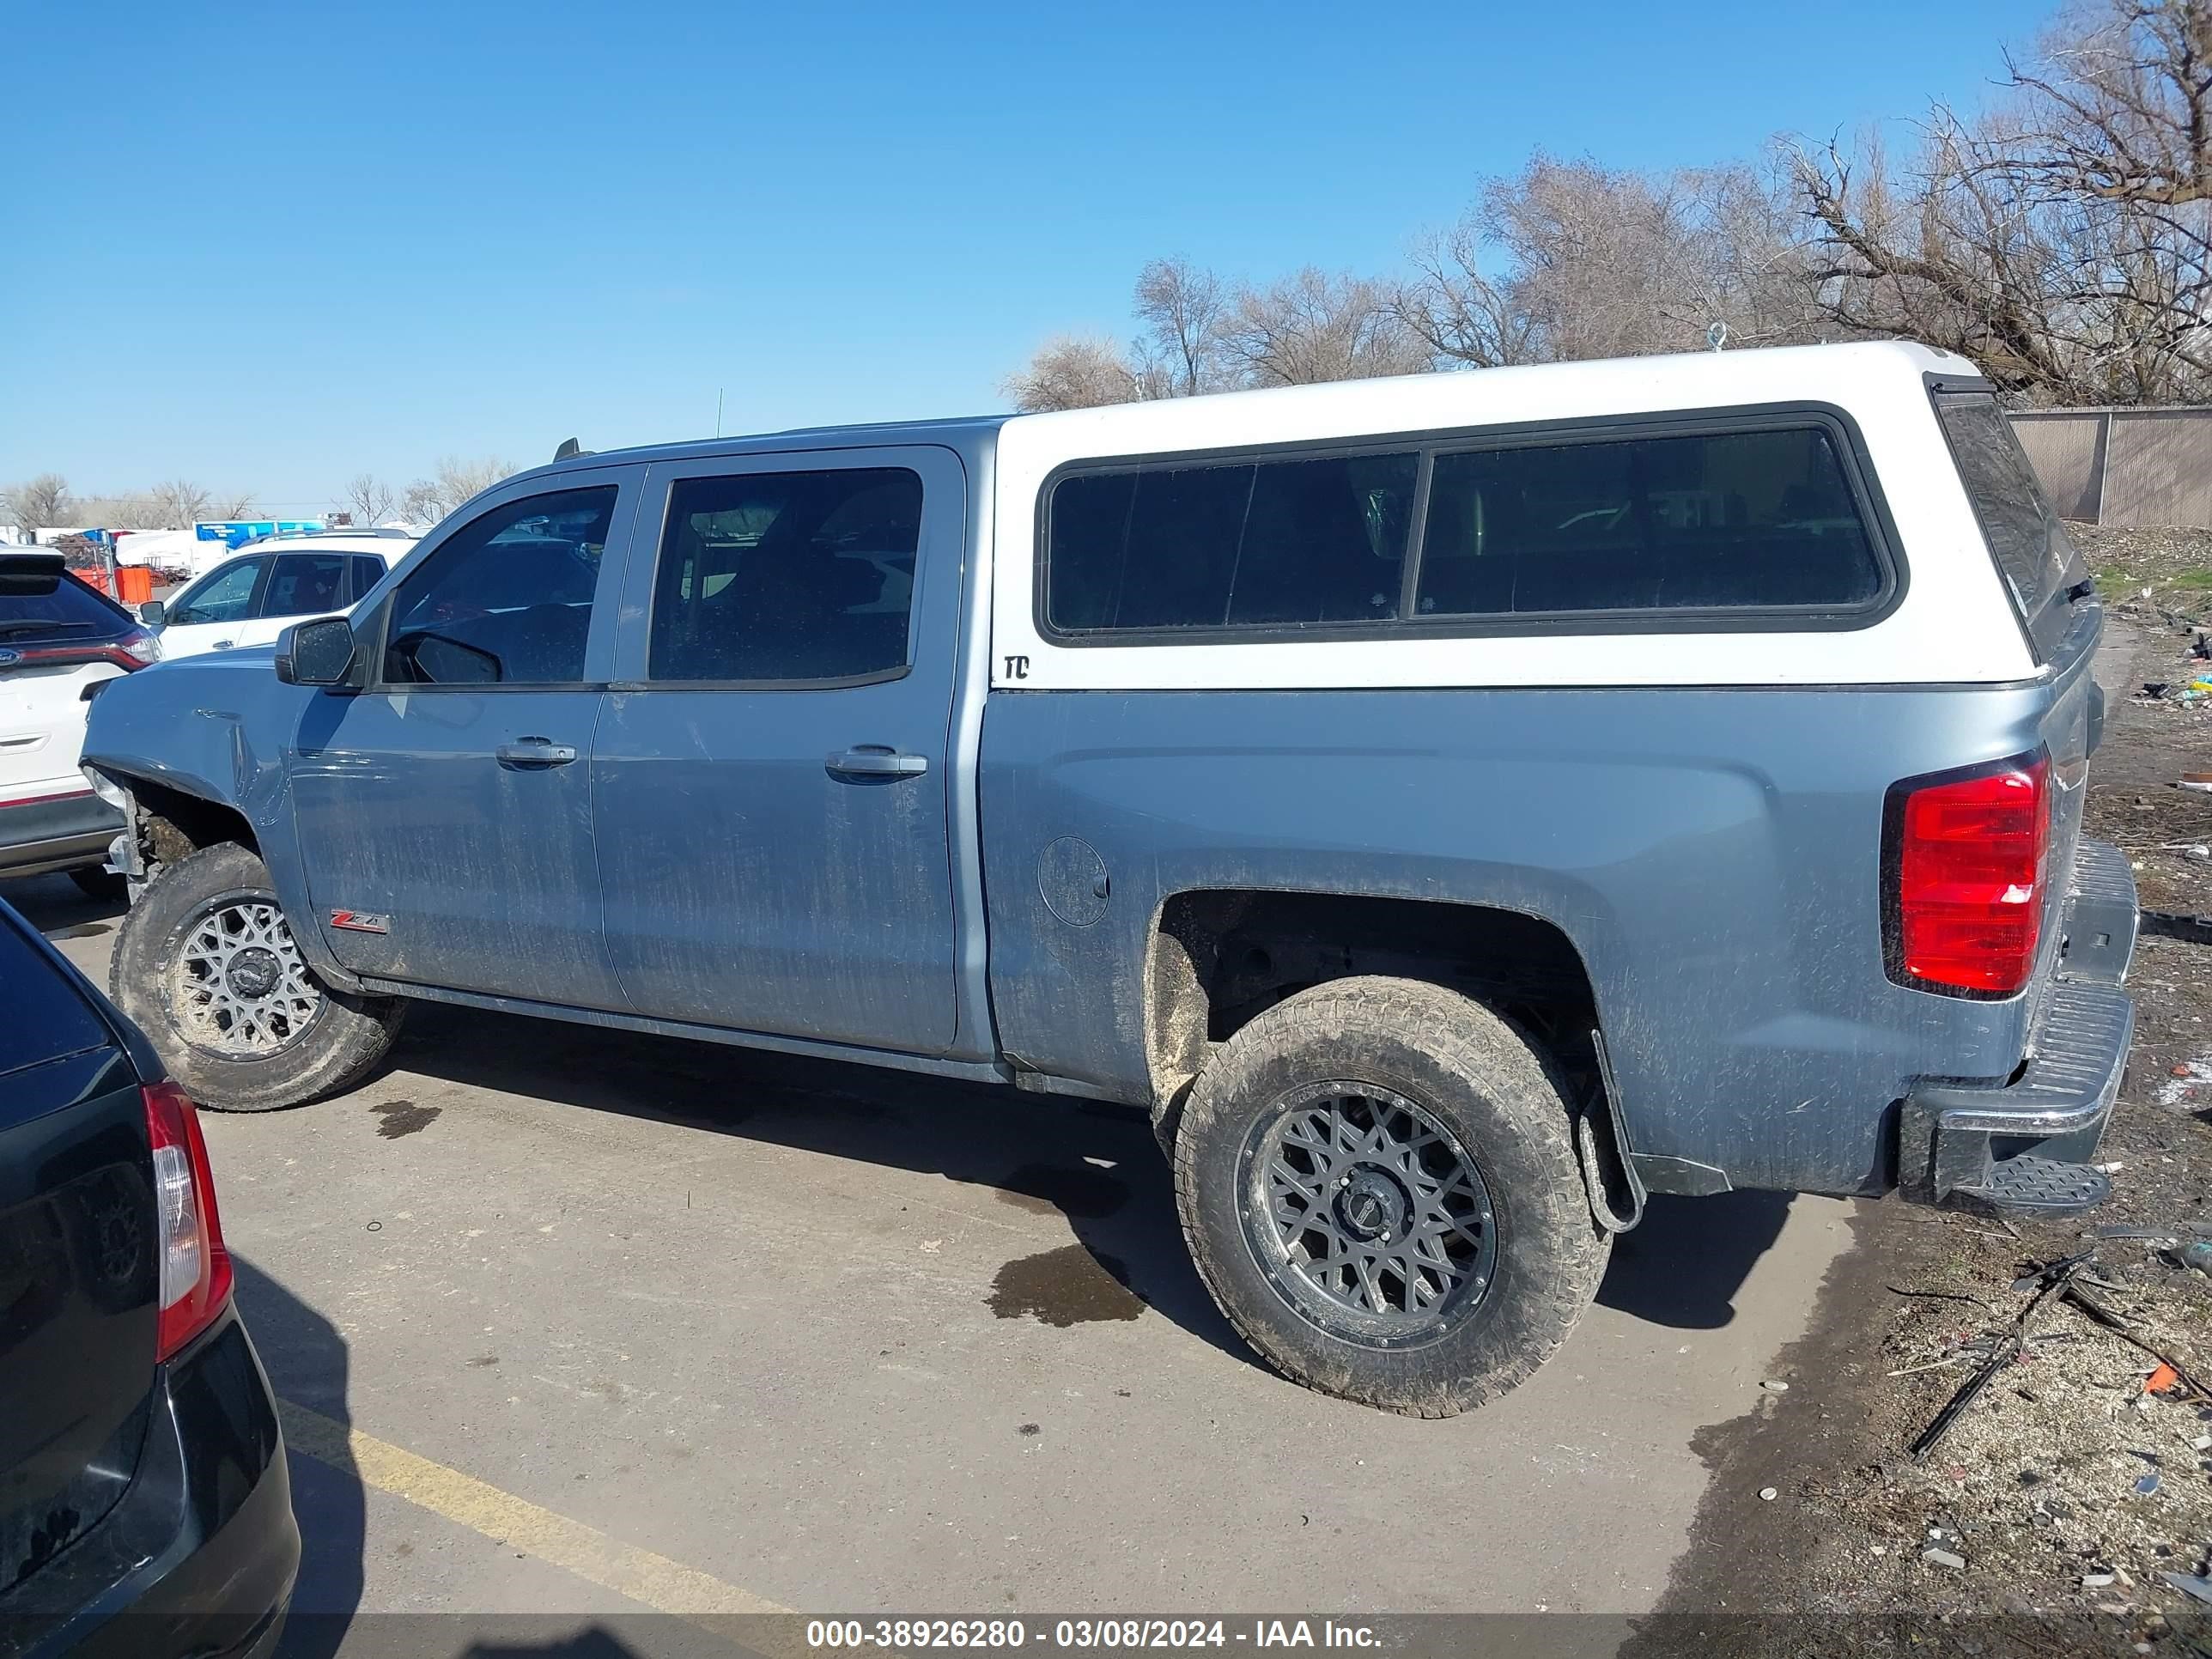
[[[383,531],[272,535],[223,560],[184,593],[139,606],[164,657],[265,646],[288,622],[352,608],[416,538]]]

